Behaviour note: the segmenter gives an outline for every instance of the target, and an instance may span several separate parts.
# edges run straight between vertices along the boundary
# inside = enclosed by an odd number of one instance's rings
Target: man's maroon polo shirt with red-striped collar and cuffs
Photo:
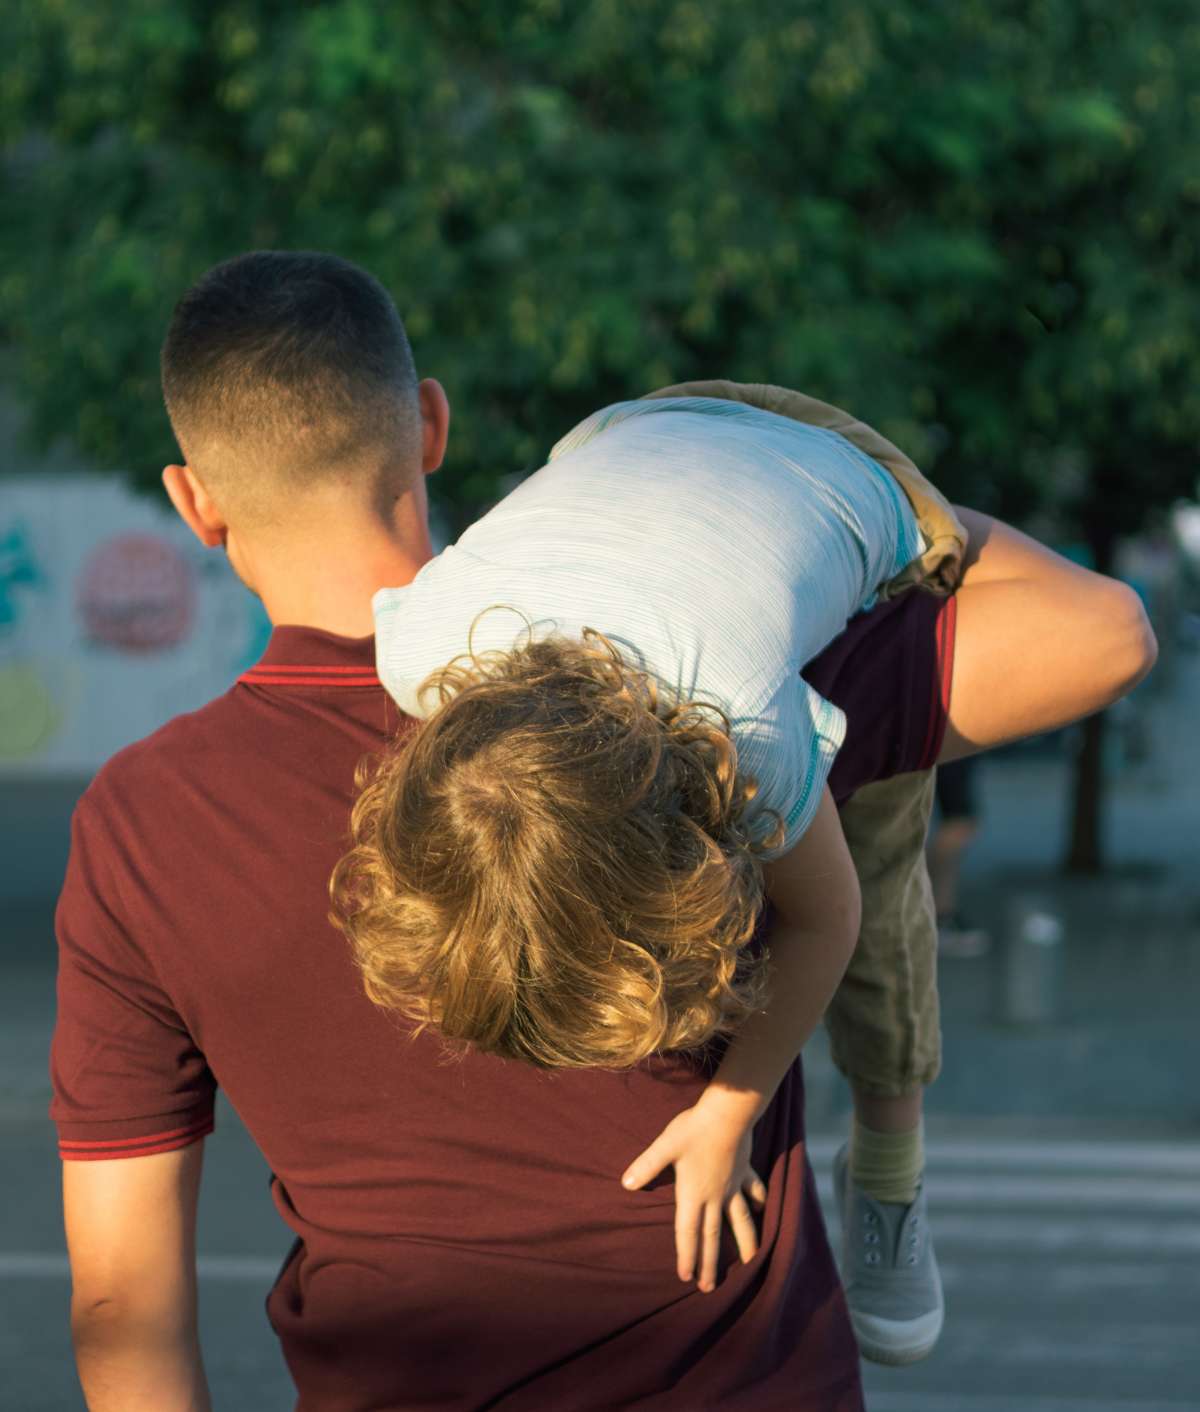
[[[805,674],[846,710],[840,798],[932,762],[953,602],[856,620]],[[758,1124],[762,1245],[675,1274],[669,1172],[620,1173],[692,1104],[683,1058],[546,1073],[448,1059],[366,998],[328,921],[354,767],[395,731],[371,640],[277,628],[224,696],[114,757],[58,911],[51,1114],[69,1161],[202,1138],[220,1084],[298,1237],[267,1309],[302,1412],[858,1412],[799,1062]]]

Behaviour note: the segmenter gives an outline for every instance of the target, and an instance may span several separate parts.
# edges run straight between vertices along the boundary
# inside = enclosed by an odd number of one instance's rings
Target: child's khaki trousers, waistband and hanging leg
[[[769,383],[679,383],[651,397],[723,397],[840,432],[885,466],[916,513],[926,552],[881,589],[953,593],[967,532],[949,501],[889,441],[829,402]],[[826,1025],[833,1060],[858,1089],[898,1097],[932,1083],[942,1065],[937,1012],[937,918],[925,861],[933,771],[858,789],[841,827],[863,890],[863,929]]]

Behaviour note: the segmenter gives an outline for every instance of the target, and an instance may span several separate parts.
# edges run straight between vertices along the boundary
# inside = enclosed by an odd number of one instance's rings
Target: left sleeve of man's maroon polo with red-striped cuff
[[[121,861],[119,825],[85,795],[55,918],[49,1114],[64,1161],[169,1152],[213,1127],[216,1082],[127,922]]]

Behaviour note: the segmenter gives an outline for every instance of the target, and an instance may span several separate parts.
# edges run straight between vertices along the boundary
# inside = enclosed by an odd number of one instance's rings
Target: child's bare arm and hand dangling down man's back
[[[761,1204],[765,1189],[750,1166],[754,1124],[824,1014],[858,938],[858,880],[829,789],[805,836],[765,874],[775,908],[769,1008],[750,1017],[695,1107],[621,1178],[632,1190],[675,1166],[679,1278],[692,1279],[699,1257],[702,1291],[716,1285],[724,1214],[741,1258],[757,1250],[747,1196]]]

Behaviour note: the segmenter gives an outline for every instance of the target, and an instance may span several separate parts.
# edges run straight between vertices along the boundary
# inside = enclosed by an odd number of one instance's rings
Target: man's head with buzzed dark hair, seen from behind
[[[418,383],[395,305],[364,270],[287,250],[209,270],[175,308],[162,393],[186,459],[164,472],[167,490],[251,587],[278,580],[268,561],[281,546],[295,568],[298,545],[339,527],[361,545],[397,515],[419,563],[422,473],[440,463],[449,412],[436,383]]]

